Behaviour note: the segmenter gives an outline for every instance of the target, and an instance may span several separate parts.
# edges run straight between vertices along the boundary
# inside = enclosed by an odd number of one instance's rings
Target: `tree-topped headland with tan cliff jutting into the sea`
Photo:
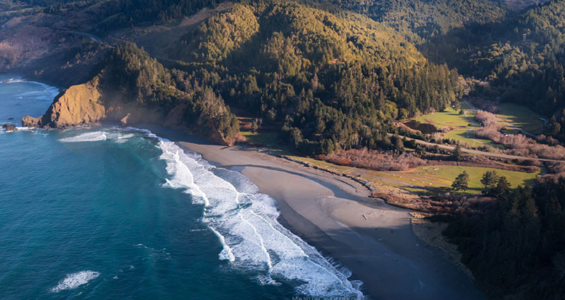
[[[172,74],[135,44],[112,49],[88,82],[55,97],[43,116],[24,116],[23,126],[66,128],[109,122],[157,124],[230,145],[237,119],[210,88],[176,88]]]

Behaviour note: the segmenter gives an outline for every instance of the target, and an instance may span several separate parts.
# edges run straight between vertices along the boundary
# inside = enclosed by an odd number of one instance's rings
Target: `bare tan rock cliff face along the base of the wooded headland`
[[[129,99],[129,95],[110,88],[103,76],[95,76],[87,83],[73,85],[54,98],[47,112],[39,117],[24,116],[22,126],[30,128],[69,128],[102,122],[120,124],[121,127],[136,124],[155,124],[202,136],[221,145],[232,145],[233,139],[224,138],[215,129],[213,121],[205,114],[186,124],[186,104],[179,103],[169,112],[163,109],[143,107]],[[194,123],[194,124],[193,124]]]

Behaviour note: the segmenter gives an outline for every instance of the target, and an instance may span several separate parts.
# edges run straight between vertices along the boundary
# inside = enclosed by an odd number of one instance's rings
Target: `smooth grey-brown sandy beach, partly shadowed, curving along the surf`
[[[438,248],[412,232],[410,210],[368,198],[355,181],[303,167],[255,149],[214,145],[159,126],[157,136],[241,172],[278,202],[292,232],[352,271],[369,299],[484,299]]]

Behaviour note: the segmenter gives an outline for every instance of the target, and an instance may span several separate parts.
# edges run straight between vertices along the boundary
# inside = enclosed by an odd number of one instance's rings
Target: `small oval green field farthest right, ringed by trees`
[[[540,119],[542,116],[521,105],[502,103],[499,105],[499,114],[496,115],[502,121],[506,121],[518,128],[528,131],[529,133],[542,133],[541,129],[544,124],[544,122]]]

